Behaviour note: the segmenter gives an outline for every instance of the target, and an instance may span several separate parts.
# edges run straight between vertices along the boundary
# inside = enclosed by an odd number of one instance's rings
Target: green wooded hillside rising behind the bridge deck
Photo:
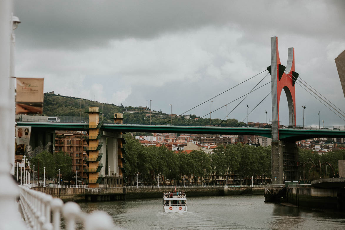
[[[124,123],[127,124],[149,124],[150,114],[145,107],[138,108],[132,106],[117,106],[115,104],[100,103],[98,101],[91,101],[82,98],[67,97],[58,94],[44,94],[43,113],[46,116],[70,116],[70,117],[87,117],[85,109],[90,106],[96,106],[103,110],[103,121],[110,121],[114,117],[114,113],[124,114]],[[187,114],[186,114],[187,115]],[[185,115],[184,115],[185,116]],[[180,125],[210,125],[209,119],[199,118],[194,114],[190,114],[190,119],[185,119],[184,116],[173,118],[172,122],[170,114],[159,111],[151,111],[151,124],[180,124]],[[194,120],[198,118],[198,120]],[[220,119],[211,119],[211,125],[217,125],[221,122]],[[225,126],[226,122],[222,123]],[[236,119],[228,119],[228,126],[242,126],[244,123],[239,123]]]

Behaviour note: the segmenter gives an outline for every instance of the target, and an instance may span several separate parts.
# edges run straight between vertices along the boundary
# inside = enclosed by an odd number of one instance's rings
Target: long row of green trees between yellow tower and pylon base
[[[187,154],[175,153],[165,146],[141,146],[130,134],[125,138],[128,163],[124,167],[130,184],[136,182],[137,174],[141,182],[149,184],[156,183],[158,175],[164,176],[164,180],[174,180],[175,184],[183,182],[184,176],[188,183],[192,178],[196,183],[197,178],[203,179],[214,173],[220,176],[230,174],[230,169],[239,174],[241,184],[249,176],[270,177],[270,147],[237,143],[218,146],[211,155],[201,150]]]

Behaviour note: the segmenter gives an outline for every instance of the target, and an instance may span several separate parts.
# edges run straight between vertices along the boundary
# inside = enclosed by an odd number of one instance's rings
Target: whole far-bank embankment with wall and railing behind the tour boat
[[[56,184],[33,184],[32,189],[40,191],[62,201],[111,201],[125,199],[160,198],[164,192],[184,191],[189,197],[199,196],[231,196],[264,194],[265,188],[277,188],[283,185],[252,186],[123,186],[116,188],[89,188],[89,186],[58,187]]]

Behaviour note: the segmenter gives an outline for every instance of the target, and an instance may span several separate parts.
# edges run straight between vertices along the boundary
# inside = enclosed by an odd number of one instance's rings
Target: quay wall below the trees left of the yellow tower
[[[63,202],[85,201],[84,188],[32,188],[33,190],[44,192],[54,198],[60,198]]]

